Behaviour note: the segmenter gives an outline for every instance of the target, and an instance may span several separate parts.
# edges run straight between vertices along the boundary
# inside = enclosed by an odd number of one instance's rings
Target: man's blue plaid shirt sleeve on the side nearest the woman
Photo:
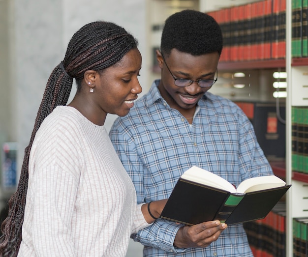
[[[134,183],[137,193],[137,203],[145,202],[143,187],[144,170],[133,140],[126,139],[123,133],[115,129],[110,131],[109,136],[125,170]],[[175,248],[173,246],[175,236],[182,226],[183,225],[177,225],[175,222],[158,219],[151,226],[133,234],[132,238],[143,245],[159,248],[167,252],[184,252],[185,249]]]

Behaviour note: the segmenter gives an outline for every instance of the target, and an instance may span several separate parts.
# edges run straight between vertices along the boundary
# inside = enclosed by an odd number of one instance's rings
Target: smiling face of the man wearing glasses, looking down
[[[158,89],[162,97],[183,115],[189,109],[194,111],[200,98],[211,88],[200,87],[197,81],[216,79],[218,53],[192,56],[172,49],[169,56],[162,56],[157,51],[156,57],[161,68]],[[174,79],[188,79],[194,82],[190,86],[179,87],[175,85]]]

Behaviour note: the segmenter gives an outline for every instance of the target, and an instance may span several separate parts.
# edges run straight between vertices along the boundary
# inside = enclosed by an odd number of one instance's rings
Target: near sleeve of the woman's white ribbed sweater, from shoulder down
[[[80,143],[59,127],[43,127],[31,149],[27,197],[32,213],[25,214],[32,215],[30,232],[37,256],[76,255],[72,217],[82,166]]]

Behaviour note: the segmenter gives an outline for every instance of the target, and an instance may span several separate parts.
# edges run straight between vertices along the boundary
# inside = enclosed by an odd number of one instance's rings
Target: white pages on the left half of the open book
[[[192,182],[236,193],[236,189],[230,182],[210,171],[203,170],[196,166],[192,166],[185,171],[181,177]]]

